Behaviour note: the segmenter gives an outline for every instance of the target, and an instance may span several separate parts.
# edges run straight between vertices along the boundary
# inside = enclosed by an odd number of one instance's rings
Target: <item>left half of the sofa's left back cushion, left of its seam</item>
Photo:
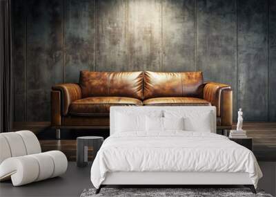
[[[82,97],[108,96],[108,73],[81,71],[79,86]]]

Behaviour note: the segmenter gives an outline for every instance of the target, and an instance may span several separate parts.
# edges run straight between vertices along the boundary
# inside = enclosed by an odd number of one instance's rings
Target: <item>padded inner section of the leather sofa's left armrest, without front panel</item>
[[[70,104],[81,99],[81,87],[79,84],[57,84],[52,91],[60,91],[62,114],[67,115]]]

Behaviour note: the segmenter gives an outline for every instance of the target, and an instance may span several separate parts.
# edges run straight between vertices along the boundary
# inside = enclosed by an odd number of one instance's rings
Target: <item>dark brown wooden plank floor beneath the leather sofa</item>
[[[46,124],[34,124],[32,126],[17,124],[14,130],[29,129],[34,130],[39,136],[41,148],[43,151],[60,150],[66,154],[68,160],[76,160],[76,138],[81,135],[102,135],[108,136],[108,131],[61,131],[62,140],[55,140],[55,131],[49,129],[42,129]],[[48,125],[48,123],[47,123]],[[233,124],[235,129],[235,124]],[[248,137],[253,138],[253,152],[259,161],[276,161],[276,122],[246,122],[244,123],[244,130],[247,131]],[[65,134],[66,133],[66,134]],[[64,139],[64,140],[63,140]],[[92,149],[88,150],[88,153]]]

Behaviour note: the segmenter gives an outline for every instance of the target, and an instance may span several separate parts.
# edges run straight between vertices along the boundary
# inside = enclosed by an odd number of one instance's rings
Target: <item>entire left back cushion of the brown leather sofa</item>
[[[143,72],[81,71],[79,77],[82,97],[134,97],[142,100]]]

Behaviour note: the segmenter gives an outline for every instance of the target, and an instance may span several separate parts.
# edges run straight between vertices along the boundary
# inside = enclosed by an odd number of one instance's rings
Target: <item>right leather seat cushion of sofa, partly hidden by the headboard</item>
[[[144,105],[211,106],[210,102],[196,97],[157,97],[144,100]]]

